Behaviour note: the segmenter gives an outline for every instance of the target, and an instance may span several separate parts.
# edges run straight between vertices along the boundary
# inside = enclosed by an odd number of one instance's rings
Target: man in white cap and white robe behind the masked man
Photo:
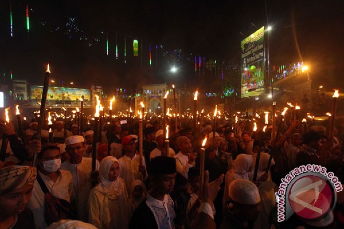
[[[68,170],[72,173],[78,220],[87,222],[87,199],[92,188],[90,177],[92,172],[92,158],[83,157],[85,153],[84,137],[73,135],[66,138],[66,152],[69,155],[69,160],[61,164],[61,169]],[[96,160],[96,170],[98,169],[99,162]]]

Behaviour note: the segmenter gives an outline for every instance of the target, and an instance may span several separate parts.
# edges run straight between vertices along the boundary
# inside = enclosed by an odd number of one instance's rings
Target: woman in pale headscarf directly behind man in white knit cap
[[[226,173],[225,180],[225,191],[223,194],[223,207],[229,199],[228,188],[232,181],[237,179],[249,180],[248,173],[251,171],[252,167],[252,155],[249,154],[239,154],[233,161],[232,169],[228,170]]]

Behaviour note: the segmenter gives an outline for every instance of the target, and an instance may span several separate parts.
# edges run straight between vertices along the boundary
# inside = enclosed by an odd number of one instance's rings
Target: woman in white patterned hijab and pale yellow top
[[[92,188],[88,198],[88,222],[97,228],[128,228],[128,193],[119,171],[115,157],[108,156],[100,162],[100,183]]]

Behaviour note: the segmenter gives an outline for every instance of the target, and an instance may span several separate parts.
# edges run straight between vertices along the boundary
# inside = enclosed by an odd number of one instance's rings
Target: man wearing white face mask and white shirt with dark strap
[[[75,201],[73,177],[66,170],[60,170],[61,153],[60,148],[54,145],[45,147],[38,154],[39,171],[37,176],[44,182],[48,191],[55,197],[65,199],[69,203]],[[45,219],[45,199],[44,192],[38,180],[35,181],[32,190],[32,196],[28,203],[28,208],[32,210],[36,228],[46,228]],[[72,205],[73,205],[72,204]],[[73,208],[75,210],[75,208]]]

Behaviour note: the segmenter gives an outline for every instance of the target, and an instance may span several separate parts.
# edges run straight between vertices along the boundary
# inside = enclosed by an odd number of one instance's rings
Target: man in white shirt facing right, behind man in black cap
[[[182,174],[187,179],[187,172],[189,168],[195,166],[195,159],[197,153],[192,151],[191,141],[186,136],[180,136],[176,139],[176,144],[179,148],[179,153],[175,155],[175,162],[177,172]]]

